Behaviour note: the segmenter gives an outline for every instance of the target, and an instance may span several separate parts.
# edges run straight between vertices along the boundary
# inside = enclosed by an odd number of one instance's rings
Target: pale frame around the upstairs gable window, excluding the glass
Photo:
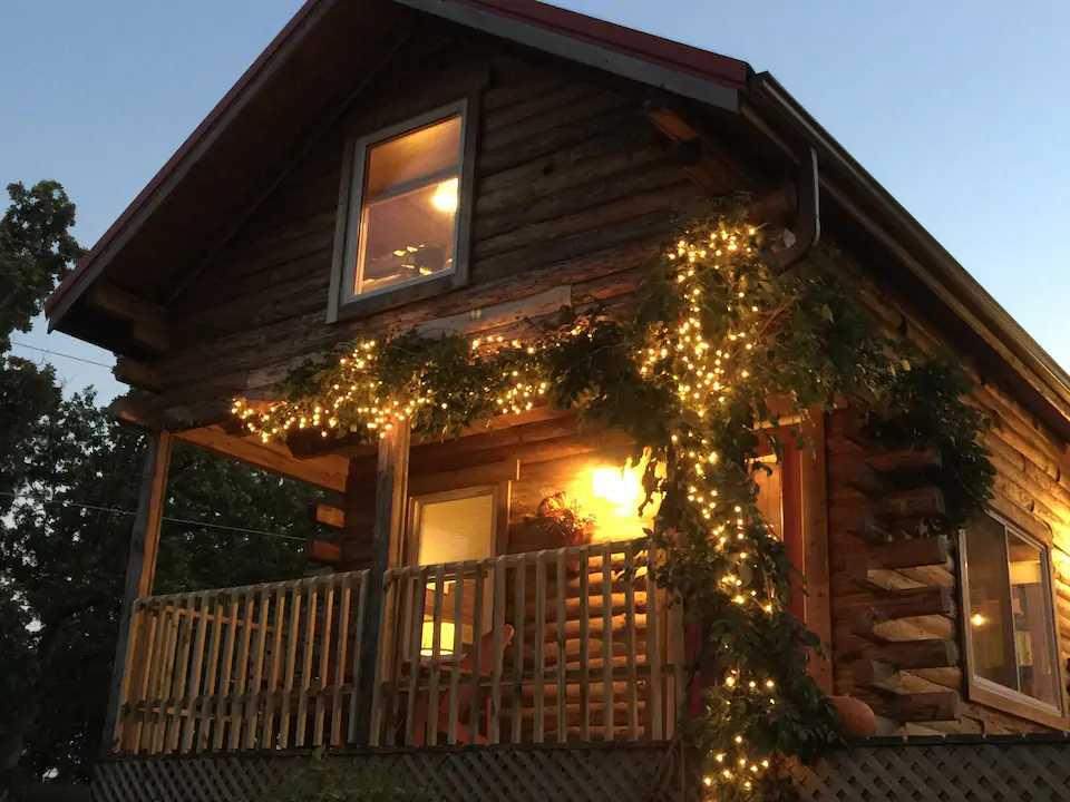
[[[391,139],[414,134],[451,117],[460,117],[460,163],[458,165],[457,216],[454,223],[454,267],[449,273],[417,278],[396,286],[360,295],[353,292],[357,282],[357,257],[363,222],[364,177],[370,150]],[[474,204],[475,166],[478,130],[478,98],[464,97],[416,117],[351,138],[342,159],[342,182],[335,216],[334,246],[331,265],[331,291],[328,323],[358,317],[390,309],[468,284],[471,209]]]

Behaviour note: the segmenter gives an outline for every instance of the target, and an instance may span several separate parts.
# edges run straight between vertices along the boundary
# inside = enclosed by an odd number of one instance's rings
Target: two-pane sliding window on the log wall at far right
[[[1061,710],[1048,551],[992,516],[963,538],[974,687]]]

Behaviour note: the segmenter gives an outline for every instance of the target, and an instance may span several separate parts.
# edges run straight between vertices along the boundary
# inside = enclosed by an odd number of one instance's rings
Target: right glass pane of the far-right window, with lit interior
[[[1014,532],[1008,532],[1006,541],[1019,685],[1022,693],[1058,706],[1047,561],[1039,548]]]

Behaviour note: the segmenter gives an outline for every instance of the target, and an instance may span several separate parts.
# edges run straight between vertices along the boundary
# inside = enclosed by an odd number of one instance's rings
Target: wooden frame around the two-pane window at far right
[[[1039,724],[1044,724],[1048,726],[1067,728],[1068,723],[1070,723],[1070,715],[1067,711],[1067,683],[1066,683],[1066,672],[1062,665],[1062,656],[1059,649],[1059,630],[1057,626],[1057,614],[1058,607],[1056,598],[1056,576],[1054,576],[1054,565],[1052,558],[1051,544],[1044,541],[1041,538],[1034,537],[1027,532],[1022,527],[1016,526],[1013,521],[1009,520],[1004,516],[1000,515],[995,510],[985,510],[985,515],[995,520],[1000,526],[1003,527],[1004,534],[1004,544],[1006,536],[1013,534],[1015,537],[1021,539],[1023,542],[1032,546],[1038,549],[1041,555],[1041,560],[1043,561],[1043,577],[1044,577],[1044,595],[1048,600],[1048,609],[1044,615],[1048,618],[1048,636],[1050,639],[1052,648],[1052,657],[1054,662],[1058,683],[1057,687],[1059,688],[1059,704],[1052,705],[1048,702],[1043,702],[1033,696],[1030,696],[1027,693],[1016,691],[1014,688],[1006,687],[1000,683],[986,679],[985,677],[977,676],[974,673],[974,658],[973,658],[973,628],[970,624],[970,619],[973,615],[970,608],[970,552],[967,547],[967,530],[959,530],[959,563],[960,563],[960,609],[961,615],[959,616],[959,623],[962,627],[963,633],[963,663],[965,664],[965,687],[966,687],[966,698],[970,702],[976,702],[986,707],[992,707],[994,710],[1002,711],[1004,713],[1010,713],[1011,715],[1019,716],[1021,718],[1027,718],[1029,721],[1037,722]],[[1010,563],[1010,555],[1006,557],[1008,564]],[[1018,658],[1015,655],[1015,672],[1018,671]]]

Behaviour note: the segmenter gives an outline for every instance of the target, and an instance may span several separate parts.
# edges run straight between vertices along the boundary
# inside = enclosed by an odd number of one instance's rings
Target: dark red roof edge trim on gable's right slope
[[[588,45],[615,50],[678,72],[746,89],[750,67],[728,56],[644,33],[537,0],[451,0],[499,17],[537,26]]]

